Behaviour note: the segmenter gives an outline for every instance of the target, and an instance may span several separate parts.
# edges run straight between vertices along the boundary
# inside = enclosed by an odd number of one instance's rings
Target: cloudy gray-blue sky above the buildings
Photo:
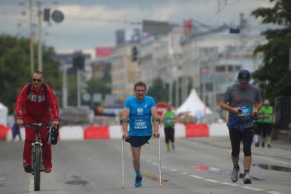
[[[0,0],[0,33],[29,36],[29,0]],[[34,9],[36,10],[36,0]],[[182,25],[184,18],[194,18],[216,27],[227,23],[238,25],[240,12],[252,27],[261,27],[250,13],[259,7],[270,7],[268,0],[59,0],[42,1],[44,8],[64,13],[62,23],[44,23],[43,40],[57,52],[114,46],[116,29],[138,27],[142,19],[166,20]],[[26,15],[21,12],[26,11]],[[130,22],[134,22],[131,24]],[[36,23],[36,20],[35,20]],[[21,24],[21,26],[19,25]]]

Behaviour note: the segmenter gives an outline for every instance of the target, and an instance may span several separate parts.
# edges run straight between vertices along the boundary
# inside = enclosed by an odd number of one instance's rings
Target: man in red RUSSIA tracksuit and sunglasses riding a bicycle
[[[59,106],[58,101],[49,85],[44,83],[44,75],[40,71],[32,75],[32,85],[27,90],[29,84],[21,89],[16,100],[16,122],[23,125],[23,122],[32,124],[34,122],[51,123],[58,127],[59,124]],[[27,94],[29,92],[29,94]],[[51,172],[51,145],[47,144],[46,135],[48,128],[42,126],[40,129],[40,138],[43,146],[43,162],[45,172]],[[34,128],[25,127],[25,142],[23,149],[23,167],[25,172],[31,173],[31,143],[35,140],[36,131]]]

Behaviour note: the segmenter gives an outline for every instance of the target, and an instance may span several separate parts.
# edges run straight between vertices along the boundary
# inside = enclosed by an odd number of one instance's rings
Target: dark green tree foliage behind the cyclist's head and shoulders
[[[36,51],[36,45],[34,45]],[[60,70],[57,61],[51,59],[53,48],[43,47],[45,81],[57,91],[61,88]],[[34,55],[37,61],[37,55]],[[35,64],[36,67],[36,64]],[[29,64],[29,40],[8,35],[0,36],[0,102],[12,111],[12,104],[23,85],[31,79]]]

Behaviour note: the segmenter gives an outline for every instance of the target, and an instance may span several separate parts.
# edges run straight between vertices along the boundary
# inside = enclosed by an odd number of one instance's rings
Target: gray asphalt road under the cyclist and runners
[[[134,187],[131,152],[125,143],[125,189],[121,189],[121,139],[59,142],[53,146],[53,171],[42,173],[38,192],[33,176],[23,171],[23,143],[0,141],[0,193],[291,193],[291,145],[253,148],[253,184],[243,184],[242,178],[230,180],[229,139],[176,141],[176,149],[166,152],[161,139],[161,188],[157,139],[142,147],[140,188]],[[277,166],[285,171],[271,170]]]

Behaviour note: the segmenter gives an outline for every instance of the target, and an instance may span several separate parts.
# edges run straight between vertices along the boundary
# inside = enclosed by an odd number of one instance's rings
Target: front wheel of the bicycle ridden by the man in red
[[[40,191],[41,148],[34,148],[34,191]]]

